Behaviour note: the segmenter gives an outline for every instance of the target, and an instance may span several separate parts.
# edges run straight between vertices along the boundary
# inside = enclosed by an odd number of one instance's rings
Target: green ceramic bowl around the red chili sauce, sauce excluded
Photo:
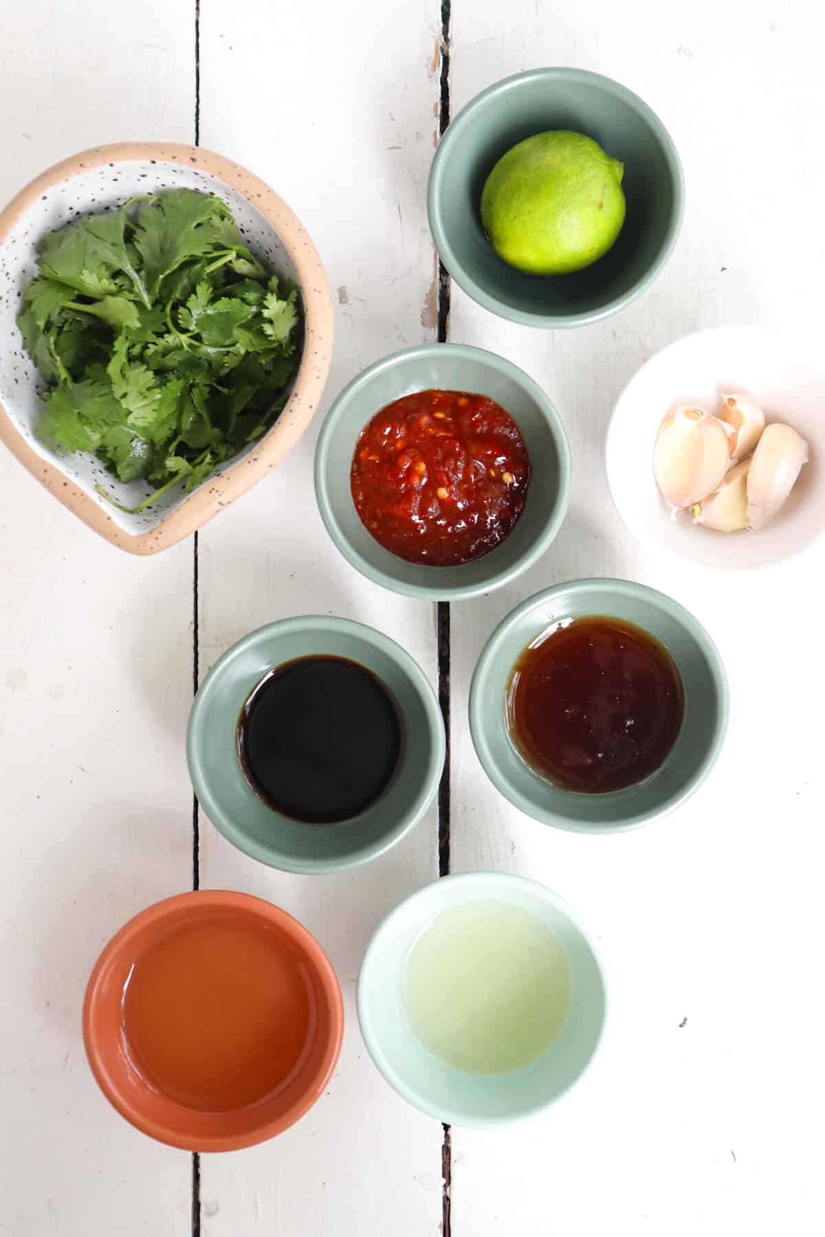
[[[510,537],[463,567],[422,567],[391,554],[361,523],[350,491],[366,423],[393,400],[433,387],[496,400],[518,422],[533,464],[527,503]],[[517,365],[464,344],[422,344],[370,365],[338,396],[318,438],[315,495],[329,536],[367,579],[411,597],[458,601],[510,583],[542,557],[568,510],[570,448],[555,408]]]

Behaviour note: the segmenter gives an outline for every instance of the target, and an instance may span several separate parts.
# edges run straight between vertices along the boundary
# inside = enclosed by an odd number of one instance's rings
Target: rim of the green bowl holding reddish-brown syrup
[[[686,778],[684,784],[680,785],[679,789],[675,790],[660,808],[651,808],[647,811],[638,811],[633,815],[621,815],[611,824],[581,824],[575,816],[565,815],[559,811],[550,811],[549,809],[542,808],[539,804],[534,803],[527,795],[522,794],[521,790],[502,774],[502,771],[492,756],[487,742],[486,725],[484,722],[484,714],[486,711],[484,695],[490,667],[498,653],[498,648],[501,647],[505,637],[510,633],[511,628],[516,626],[522,615],[528,614],[536,606],[543,605],[545,601],[558,596],[559,594],[589,594],[594,589],[600,591],[609,590],[621,596],[649,601],[659,610],[664,610],[672,617],[677,618],[701,648],[719,698],[719,719],[714,741],[693,777]],[[679,673],[682,673],[682,670],[679,670]],[[481,656],[476,662],[475,670],[472,672],[469,715],[472,746],[475,747],[475,753],[481,762],[481,767],[490,778],[490,782],[495,785],[496,790],[498,790],[505,799],[512,803],[513,807],[518,808],[527,816],[532,816],[532,819],[539,821],[539,824],[550,825],[554,829],[564,829],[568,833],[618,834],[628,833],[631,829],[638,829],[641,825],[646,825],[652,820],[660,820],[663,816],[669,815],[675,808],[679,807],[679,804],[684,803],[695,790],[699,789],[716,763],[722,743],[725,742],[730,715],[730,693],[727,687],[727,675],[725,674],[725,664],[720,657],[716,644],[699,620],[695,618],[689,610],[685,610],[679,601],[668,596],[667,593],[660,593],[658,589],[649,588],[647,584],[637,584],[633,580],[618,580],[611,576],[591,576],[590,579],[571,580],[568,584],[554,584],[549,589],[542,589],[539,593],[534,593],[532,597],[527,597],[526,601],[522,601],[521,605],[511,610],[510,614],[505,615],[501,622],[494,628],[490,638],[484,646]],[[602,798],[607,797],[604,795]]]

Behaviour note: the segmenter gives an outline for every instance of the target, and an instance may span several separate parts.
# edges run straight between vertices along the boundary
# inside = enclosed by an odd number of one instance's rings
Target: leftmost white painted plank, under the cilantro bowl
[[[6,5],[0,198],[131,136],[190,140],[190,14]],[[188,888],[192,546],[105,546],[0,454],[0,1233],[188,1231],[189,1159],[143,1138],[85,1064],[80,1006],[109,936]]]

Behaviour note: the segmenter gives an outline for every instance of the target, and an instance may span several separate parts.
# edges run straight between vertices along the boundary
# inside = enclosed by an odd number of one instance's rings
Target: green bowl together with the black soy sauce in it
[[[430,805],[444,724],[418,663],[346,618],[301,616],[245,636],[192,706],[198,802],[252,858],[334,872],[375,858]]]

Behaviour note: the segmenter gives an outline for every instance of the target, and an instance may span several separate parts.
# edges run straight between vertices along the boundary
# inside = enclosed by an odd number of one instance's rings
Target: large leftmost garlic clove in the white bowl
[[[730,465],[730,427],[701,408],[679,404],[656,437],[653,473],[672,507],[693,507],[715,490]]]

